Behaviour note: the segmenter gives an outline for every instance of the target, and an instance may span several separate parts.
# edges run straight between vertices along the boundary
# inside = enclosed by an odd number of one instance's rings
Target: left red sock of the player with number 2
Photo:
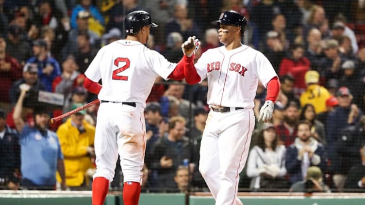
[[[103,205],[109,189],[109,180],[95,177],[93,181],[93,205]]]

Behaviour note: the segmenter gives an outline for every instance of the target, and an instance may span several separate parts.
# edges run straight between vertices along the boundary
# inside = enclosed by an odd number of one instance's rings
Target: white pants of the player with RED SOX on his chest
[[[208,114],[200,146],[199,171],[216,205],[242,205],[237,198],[239,173],[249,155],[255,126],[252,109]]]

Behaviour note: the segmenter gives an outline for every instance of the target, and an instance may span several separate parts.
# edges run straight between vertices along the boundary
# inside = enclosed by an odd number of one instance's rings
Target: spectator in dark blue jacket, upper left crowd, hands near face
[[[38,66],[38,79],[45,85],[46,91],[52,92],[52,82],[57,76],[61,76],[60,64],[48,55],[47,42],[37,39],[33,42],[34,56],[27,63],[35,63]]]

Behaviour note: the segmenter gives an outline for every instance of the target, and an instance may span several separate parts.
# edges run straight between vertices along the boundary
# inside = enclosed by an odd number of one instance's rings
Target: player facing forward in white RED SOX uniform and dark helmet
[[[207,104],[211,110],[203,132],[199,171],[216,205],[242,205],[237,198],[239,173],[249,154],[255,116],[252,108],[258,81],[267,87],[259,121],[272,117],[280,83],[271,63],[259,51],[241,44],[246,19],[234,11],[221,14],[219,41],[224,44],[207,50],[194,65],[194,56],[184,66],[190,84],[208,78]],[[191,47],[189,38],[182,47]],[[189,45],[189,46],[188,46]]]

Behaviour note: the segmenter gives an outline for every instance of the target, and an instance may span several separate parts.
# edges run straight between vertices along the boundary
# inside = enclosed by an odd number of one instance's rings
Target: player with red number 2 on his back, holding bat
[[[85,88],[99,94],[100,99],[95,133],[97,171],[93,176],[93,205],[103,205],[105,201],[118,154],[124,175],[124,205],[138,204],[146,148],[143,113],[146,99],[158,76],[184,78],[183,60],[178,64],[170,63],[144,46],[150,27],[156,26],[145,11],[129,13],[125,19],[126,39],[102,47],[85,72]],[[194,46],[194,43],[188,45]],[[98,83],[100,79],[102,86]]]

